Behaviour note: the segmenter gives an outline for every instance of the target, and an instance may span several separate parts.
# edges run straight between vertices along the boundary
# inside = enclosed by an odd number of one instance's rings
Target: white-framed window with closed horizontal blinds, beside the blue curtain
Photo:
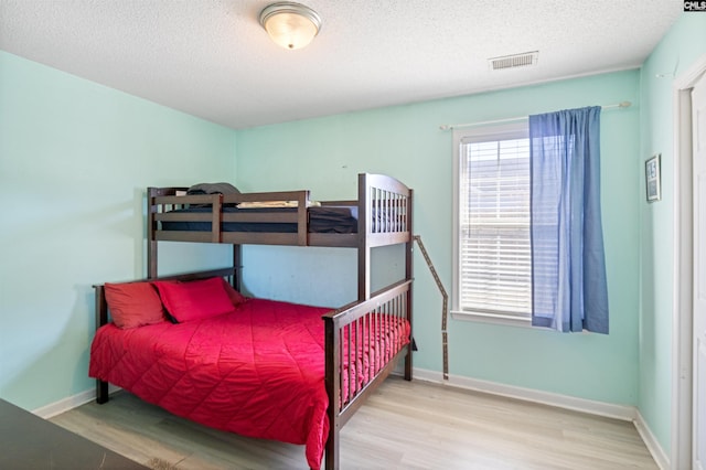
[[[530,323],[527,124],[454,132],[456,318]]]

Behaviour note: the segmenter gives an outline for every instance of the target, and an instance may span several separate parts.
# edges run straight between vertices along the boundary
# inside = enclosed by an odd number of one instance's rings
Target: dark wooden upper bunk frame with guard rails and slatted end
[[[413,190],[400,181],[384,174],[361,173],[357,177],[357,200],[321,201],[322,206],[355,206],[357,209],[356,233],[310,233],[307,207],[311,202],[309,191],[258,192],[243,194],[199,194],[176,195],[185,193],[188,188],[148,188],[148,276],[158,276],[159,242],[200,242],[231,244],[233,266],[240,266],[242,245],[289,245],[289,246],[327,246],[357,248],[357,287],[359,300],[371,296],[371,252],[385,245],[406,244],[405,278],[411,279],[413,236]],[[290,213],[250,213],[228,214],[223,212],[226,204],[265,201],[297,201],[297,210]],[[172,213],[174,209],[189,204],[208,205],[207,213]],[[377,211],[388,212],[387,218],[393,224],[381,224],[375,218]],[[206,222],[211,224],[207,232],[165,231],[161,222]],[[225,232],[223,223],[293,223],[296,233],[279,232]],[[236,284],[239,278],[236,279]]]

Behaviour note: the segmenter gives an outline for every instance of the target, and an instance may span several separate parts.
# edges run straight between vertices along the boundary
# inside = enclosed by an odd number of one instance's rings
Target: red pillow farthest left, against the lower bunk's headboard
[[[104,286],[110,318],[118,328],[137,328],[164,321],[164,309],[150,282]]]

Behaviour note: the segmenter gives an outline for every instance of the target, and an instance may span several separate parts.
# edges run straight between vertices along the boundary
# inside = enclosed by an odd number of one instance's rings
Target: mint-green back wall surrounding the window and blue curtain
[[[614,404],[638,403],[640,74],[613,73],[408,106],[238,131],[240,190],[306,188],[313,199],[352,199],[359,172],[394,175],[415,190],[415,233],[451,287],[452,135],[439,125],[503,119],[630,100],[602,114],[602,200],[609,335],[559,334],[469,321],[449,323],[453,375]],[[340,263],[300,249],[246,252],[245,281],[258,296],[342,305],[355,298],[355,255]],[[383,254],[377,265],[392,256]],[[272,274],[271,261],[279,261]],[[344,267],[341,267],[344,266]],[[347,271],[346,271],[347,268]],[[347,274],[347,277],[345,275]],[[415,254],[417,367],[441,371],[441,298]],[[343,275],[341,277],[341,275]],[[343,279],[335,292],[330,279]],[[349,285],[349,288],[342,286]],[[314,293],[312,293],[312,286]],[[325,287],[324,287],[325,286]],[[319,300],[319,301],[318,301]]]

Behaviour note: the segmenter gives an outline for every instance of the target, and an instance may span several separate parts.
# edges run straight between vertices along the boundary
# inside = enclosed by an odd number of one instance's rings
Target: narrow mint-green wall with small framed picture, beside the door
[[[640,161],[662,154],[662,201],[640,203],[640,413],[671,451],[674,302],[674,81],[706,55],[706,14],[683,13],[641,74]],[[644,194],[641,181],[640,194]]]

